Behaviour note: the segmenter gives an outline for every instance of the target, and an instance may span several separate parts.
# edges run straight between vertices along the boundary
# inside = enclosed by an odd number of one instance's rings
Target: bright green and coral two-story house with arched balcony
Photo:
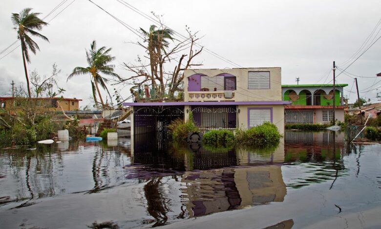
[[[282,85],[285,105],[285,123],[329,123],[333,120],[333,97],[335,96],[335,118],[344,121],[346,99],[344,87],[348,84],[300,84]]]

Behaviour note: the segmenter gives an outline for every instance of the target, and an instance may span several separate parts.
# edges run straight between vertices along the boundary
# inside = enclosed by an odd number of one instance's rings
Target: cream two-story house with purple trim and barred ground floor
[[[131,142],[161,132],[175,118],[193,119],[201,130],[251,128],[265,121],[284,130],[281,68],[184,71],[184,101],[124,103],[131,109]],[[143,140],[145,141],[145,140]]]

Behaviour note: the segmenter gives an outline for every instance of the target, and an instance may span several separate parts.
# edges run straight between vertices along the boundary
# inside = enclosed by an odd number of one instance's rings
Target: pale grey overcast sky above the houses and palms
[[[93,0],[108,12],[133,28],[148,30],[151,21],[130,10],[117,0]],[[213,52],[232,60],[243,67],[281,67],[282,83],[300,84],[327,83],[332,79],[332,61],[344,69],[362,52],[348,61],[359,50],[365,39],[381,19],[380,0],[126,0],[137,9],[150,14],[163,15],[167,26],[185,33],[185,25],[204,36],[200,43]],[[45,17],[62,0],[3,0],[0,9],[0,51],[17,39],[11,22],[11,13],[23,8],[33,8]],[[51,20],[72,0],[67,0],[45,21]],[[367,43],[381,36],[381,25]],[[121,67],[123,62],[133,62],[144,50],[132,42],[139,38],[115,19],[88,0],[75,0],[60,15],[52,19],[41,33],[50,43],[39,38],[34,40],[41,51],[31,56],[29,70],[49,74],[51,65],[57,63],[62,69],[60,86],[66,89],[65,97],[82,98],[80,104],[89,102],[91,86],[89,76],[74,77],[66,82],[67,76],[76,66],[86,66],[85,49],[93,39],[100,46],[111,47],[116,57],[114,64],[120,76],[130,76]],[[373,39],[374,38],[374,39]],[[15,48],[19,43],[12,46]],[[7,54],[9,49],[0,58]],[[361,49],[361,51],[364,50]],[[236,67],[207,52],[196,62],[201,68]],[[361,97],[377,101],[376,88],[381,86],[381,39],[347,71],[357,76]],[[336,71],[337,75],[341,72]],[[349,75],[349,74],[347,74]],[[328,76],[328,77],[327,77]],[[351,75],[350,75],[351,76]],[[0,59],[0,96],[9,95],[12,80],[25,84],[21,48]],[[341,74],[337,83],[347,83],[350,102],[357,95],[350,93],[354,79]],[[370,88],[369,88],[370,87]],[[109,86],[110,92],[113,86]],[[129,87],[116,87],[123,97],[129,95]],[[374,90],[372,90],[374,89]],[[381,89],[381,87],[380,87]],[[352,88],[355,91],[356,87]],[[370,92],[366,92],[369,91]],[[381,91],[380,91],[381,92]]]

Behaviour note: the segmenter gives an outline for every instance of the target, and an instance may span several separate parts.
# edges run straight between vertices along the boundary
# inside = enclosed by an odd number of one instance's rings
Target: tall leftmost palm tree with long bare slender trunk
[[[45,21],[39,19],[41,13],[31,13],[32,8],[23,9],[20,14],[12,14],[12,23],[15,25],[14,29],[17,30],[17,38],[21,41],[21,52],[22,60],[24,62],[24,71],[26,78],[26,85],[28,87],[28,95],[30,95],[29,88],[29,77],[26,70],[26,62],[30,63],[28,50],[36,54],[36,50],[40,50],[38,44],[30,38],[30,35],[42,38],[43,40],[49,41],[48,38],[36,32],[36,30],[41,30],[43,26],[47,25]]]

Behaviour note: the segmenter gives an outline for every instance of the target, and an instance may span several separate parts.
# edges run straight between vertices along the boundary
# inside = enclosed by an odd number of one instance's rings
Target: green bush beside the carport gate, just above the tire
[[[200,131],[193,121],[192,113],[189,114],[189,119],[186,122],[184,122],[182,118],[173,120],[168,125],[168,129],[172,134],[173,141],[175,142],[184,142],[186,141],[189,133]]]

